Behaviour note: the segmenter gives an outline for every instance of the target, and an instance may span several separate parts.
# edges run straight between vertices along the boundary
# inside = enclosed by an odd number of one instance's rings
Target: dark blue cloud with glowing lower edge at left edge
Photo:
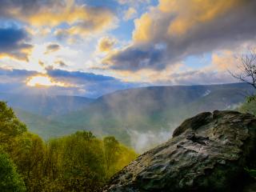
[[[0,28],[0,58],[10,57],[27,62],[33,48],[27,41],[29,35],[25,30]]]

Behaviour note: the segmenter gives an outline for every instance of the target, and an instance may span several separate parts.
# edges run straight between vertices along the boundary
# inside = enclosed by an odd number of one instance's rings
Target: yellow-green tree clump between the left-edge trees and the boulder
[[[27,167],[22,170],[27,188],[29,191],[101,191],[116,171],[136,157],[134,151],[110,138],[103,142],[90,132],[78,131],[51,139],[43,146],[33,136],[32,154],[27,154],[26,162],[21,162]],[[110,157],[112,149],[120,152]]]

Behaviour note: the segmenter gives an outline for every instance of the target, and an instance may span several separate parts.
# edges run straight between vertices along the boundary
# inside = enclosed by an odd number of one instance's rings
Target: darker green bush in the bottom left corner
[[[26,187],[8,155],[0,151],[0,189],[2,192],[23,192]]]

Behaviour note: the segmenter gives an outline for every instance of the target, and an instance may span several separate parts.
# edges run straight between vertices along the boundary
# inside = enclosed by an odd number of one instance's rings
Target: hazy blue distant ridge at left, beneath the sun
[[[0,100],[9,106],[26,110],[42,116],[53,116],[81,110],[94,101],[78,96],[49,96],[43,94],[6,94],[0,93]]]

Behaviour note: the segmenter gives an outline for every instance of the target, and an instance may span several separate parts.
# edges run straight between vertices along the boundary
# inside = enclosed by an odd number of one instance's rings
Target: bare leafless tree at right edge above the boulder
[[[256,90],[256,52],[249,48],[246,54],[238,58],[238,72],[229,73],[241,82],[246,82]]]

